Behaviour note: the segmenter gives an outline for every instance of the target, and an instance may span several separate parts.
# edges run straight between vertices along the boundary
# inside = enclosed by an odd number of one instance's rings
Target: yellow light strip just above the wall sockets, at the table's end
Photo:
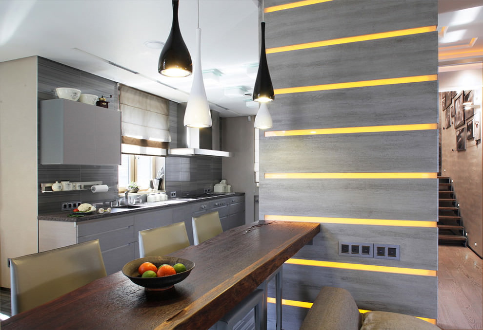
[[[371,226],[425,227],[425,228],[437,227],[436,220],[435,221],[389,220],[389,219],[329,218],[329,217],[278,216],[278,215],[265,215],[264,220],[359,224],[359,225],[371,225]]]

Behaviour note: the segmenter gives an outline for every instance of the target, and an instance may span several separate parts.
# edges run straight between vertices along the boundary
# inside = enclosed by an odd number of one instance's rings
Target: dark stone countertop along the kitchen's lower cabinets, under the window
[[[87,220],[109,218],[109,217],[113,217],[113,216],[123,216],[123,215],[128,215],[128,214],[133,214],[133,213],[139,213],[139,212],[143,212],[143,211],[153,211],[153,210],[161,209],[161,208],[182,206],[182,205],[187,205],[187,204],[190,204],[190,203],[212,201],[212,200],[222,199],[222,198],[231,197],[231,196],[244,196],[244,195],[245,195],[245,193],[226,193],[226,195],[204,197],[204,198],[193,199],[193,200],[173,199],[173,200],[168,200],[168,201],[165,201],[165,202],[142,203],[142,204],[136,204],[136,205],[142,205],[142,207],[138,207],[138,208],[122,209],[122,208],[113,207],[111,209],[111,213],[100,214],[100,213],[97,213],[97,212],[93,212],[92,214],[84,215],[83,217],[68,217],[69,214],[72,214],[72,211],[63,211],[63,212],[51,213],[51,214],[39,214],[37,216],[37,219],[38,220],[49,220],[49,221],[82,222],[82,221],[87,221]],[[172,202],[172,201],[177,201],[177,202]]]

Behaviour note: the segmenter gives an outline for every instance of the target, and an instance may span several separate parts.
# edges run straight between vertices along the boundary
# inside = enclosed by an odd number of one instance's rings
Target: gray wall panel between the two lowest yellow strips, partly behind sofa
[[[283,265],[284,299],[313,302],[323,286],[348,290],[363,310],[436,318],[436,276]]]

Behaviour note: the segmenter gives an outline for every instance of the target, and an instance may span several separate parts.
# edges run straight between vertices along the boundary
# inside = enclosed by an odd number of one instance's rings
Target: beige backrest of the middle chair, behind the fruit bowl
[[[139,256],[165,256],[189,246],[184,221],[139,232]]]

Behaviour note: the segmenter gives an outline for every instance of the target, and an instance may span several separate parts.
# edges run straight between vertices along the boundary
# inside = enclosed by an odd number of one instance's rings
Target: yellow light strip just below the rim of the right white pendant
[[[271,131],[265,132],[265,137],[397,132],[397,131],[405,131],[405,130],[426,130],[426,129],[437,129],[437,128],[438,128],[438,124],[410,124],[410,125],[381,125],[381,126],[360,126],[360,127],[340,127],[340,128],[271,130]]]

